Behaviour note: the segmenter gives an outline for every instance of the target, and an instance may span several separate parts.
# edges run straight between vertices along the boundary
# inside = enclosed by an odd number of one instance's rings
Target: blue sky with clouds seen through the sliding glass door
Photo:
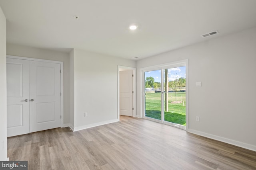
[[[145,72],[145,79],[146,79],[146,77],[153,77],[155,82],[161,82],[161,70]],[[176,78],[180,78],[180,77],[186,78],[186,66],[168,69],[169,82],[175,80]]]

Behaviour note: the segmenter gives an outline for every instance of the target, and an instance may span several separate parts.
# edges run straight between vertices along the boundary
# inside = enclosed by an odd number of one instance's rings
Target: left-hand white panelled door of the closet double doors
[[[7,137],[29,133],[29,61],[6,59]]]

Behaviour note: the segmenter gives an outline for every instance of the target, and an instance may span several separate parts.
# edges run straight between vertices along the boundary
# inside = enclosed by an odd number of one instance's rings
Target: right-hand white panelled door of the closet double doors
[[[61,126],[60,64],[30,61],[30,132]]]

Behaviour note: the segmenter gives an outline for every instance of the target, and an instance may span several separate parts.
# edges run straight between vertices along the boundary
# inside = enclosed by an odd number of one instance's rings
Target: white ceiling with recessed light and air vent
[[[0,0],[0,7],[8,43],[126,59],[256,26],[256,0]]]

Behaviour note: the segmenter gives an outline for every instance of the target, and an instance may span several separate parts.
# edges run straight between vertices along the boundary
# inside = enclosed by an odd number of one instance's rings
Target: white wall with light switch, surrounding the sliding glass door
[[[256,28],[139,60],[137,73],[183,59],[189,73],[188,131],[256,150]]]

